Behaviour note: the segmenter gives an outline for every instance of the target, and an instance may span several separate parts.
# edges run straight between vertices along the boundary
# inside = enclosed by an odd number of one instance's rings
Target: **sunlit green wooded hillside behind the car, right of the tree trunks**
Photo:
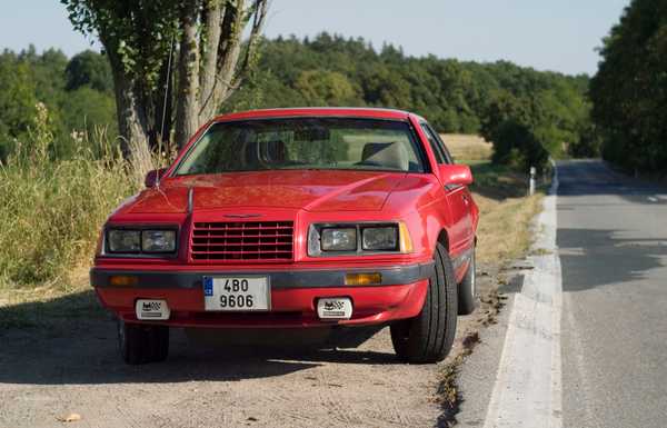
[[[591,140],[586,100],[588,77],[540,72],[510,62],[475,63],[435,56],[409,57],[364,39],[321,33],[262,40],[251,84],[231,109],[288,106],[377,106],[426,117],[442,132],[489,136],[502,121],[526,123],[555,156]],[[595,151],[595,150],[593,150]]]

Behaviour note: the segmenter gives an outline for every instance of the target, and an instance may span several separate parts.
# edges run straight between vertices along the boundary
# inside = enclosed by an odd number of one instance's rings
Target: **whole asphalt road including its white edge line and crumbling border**
[[[667,187],[597,160],[558,178],[520,285],[461,367],[459,426],[667,427]]]

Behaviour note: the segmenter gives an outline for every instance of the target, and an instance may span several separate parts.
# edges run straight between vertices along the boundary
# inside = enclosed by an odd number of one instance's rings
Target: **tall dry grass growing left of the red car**
[[[30,145],[18,143],[0,166],[2,288],[53,283],[67,290],[68,273],[90,259],[100,225],[138,189],[118,148],[92,150],[97,142],[86,136],[67,159],[52,159],[48,122],[49,111],[38,104]]]

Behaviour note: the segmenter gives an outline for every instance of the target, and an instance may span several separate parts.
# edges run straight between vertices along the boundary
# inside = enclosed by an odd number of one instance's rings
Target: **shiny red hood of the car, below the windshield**
[[[405,172],[289,170],[165,179],[123,211],[177,213],[188,209],[293,208],[308,211],[378,211]]]

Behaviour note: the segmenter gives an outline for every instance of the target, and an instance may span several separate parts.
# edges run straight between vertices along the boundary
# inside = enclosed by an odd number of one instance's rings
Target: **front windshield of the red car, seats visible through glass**
[[[282,169],[422,172],[407,122],[355,118],[261,119],[212,125],[176,176]]]

